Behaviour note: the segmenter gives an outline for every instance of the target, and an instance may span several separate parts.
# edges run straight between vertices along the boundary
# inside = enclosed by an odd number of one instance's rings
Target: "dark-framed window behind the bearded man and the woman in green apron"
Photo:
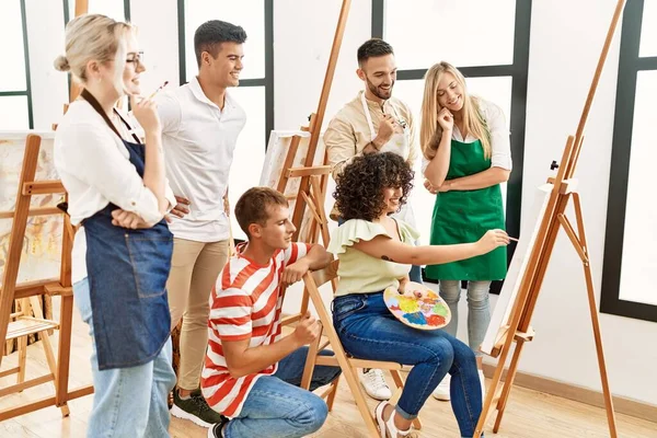
[[[505,112],[511,131],[514,170],[503,186],[503,198],[507,231],[514,237],[520,233],[530,19],[531,1],[372,1],[372,36],[384,38],[395,50],[399,70],[394,95],[413,111],[418,135],[424,74],[440,60],[459,68],[472,94],[494,102]],[[441,44],[463,30],[469,33],[466,38],[460,38],[458,44],[451,39]],[[480,44],[482,41],[486,44]],[[423,180],[418,175],[412,201],[422,243],[426,244],[434,197],[422,187]],[[509,261],[511,256],[509,246]],[[492,290],[500,287],[502,283],[496,281]]]

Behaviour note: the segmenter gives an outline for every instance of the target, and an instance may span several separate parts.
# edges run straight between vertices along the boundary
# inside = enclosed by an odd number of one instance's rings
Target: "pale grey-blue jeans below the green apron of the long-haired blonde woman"
[[[486,336],[491,323],[491,302],[488,290],[491,281],[468,281],[468,344],[476,356],[481,356],[480,347]],[[440,297],[449,306],[452,319],[445,331],[452,336],[459,328],[459,300],[461,299],[461,281],[440,280]]]

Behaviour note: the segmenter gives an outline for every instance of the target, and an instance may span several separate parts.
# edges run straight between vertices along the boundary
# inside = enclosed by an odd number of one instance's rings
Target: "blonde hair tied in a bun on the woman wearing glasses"
[[[80,15],[66,25],[66,55],[55,58],[55,68],[70,71],[73,79],[87,83],[87,65],[115,61],[116,78],[120,80],[125,67],[126,37],[134,27],[100,14]],[[118,90],[122,90],[118,88]]]

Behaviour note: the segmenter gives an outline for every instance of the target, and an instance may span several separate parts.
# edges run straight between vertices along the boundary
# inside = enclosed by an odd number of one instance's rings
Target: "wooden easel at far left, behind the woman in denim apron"
[[[71,247],[73,240],[73,229],[67,215],[64,215],[64,232],[61,242],[61,268],[59,278],[30,281],[16,284],[21,253],[23,251],[23,241],[27,218],[30,216],[62,215],[64,212],[55,207],[30,208],[33,195],[65,194],[64,186],[59,181],[35,181],[38,152],[41,148],[41,137],[28,135],[25,142],[25,155],[23,168],[19,180],[19,189],[14,211],[0,214],[2,218],[13,217],[11,234],[9,240],[9,251],[7,265],[4,267],[2,288],[0,289],[0,341],[4,342],[12,338],[22,338],[31,334],[38,333],[46,354],[46,359],[50,373],[41,376],[27,381],[24,380],[24,366],[9,369],[0,372],[0,376],[19,373],[19,382],[9,388],[0,390],[0,395],[8,395],[21,392],[24,389],[54,382],[55,396],[48,396],[35,402],[13,406],[0,411],[0,420],[23,415],[48,406],[58,406],[64,416],[69,415],[67,402],[69,400],[91,394],[93,387],[84,387],[69,392],[69,359],[71,346],[71,328],[73,314],[73,295],[71,288]],[[61,297],[61,308],[59,322],[45,320],[43,311],[36,296],[49,295]],[[22,300],[22,314],[14,315],[12,319],[11,307],[14,300]],[[31,309],[31,311],[30,311]],[[48,331],[59,330],[59,345],[57,348],[57,360],[53,351]],[[24,343],[22,345],[24,347]],[[25,353],[20,353],[20,362],[25,359]],[[0,356],[0,364],[2,356]],[[21,369],[22,368],[22,369]]]

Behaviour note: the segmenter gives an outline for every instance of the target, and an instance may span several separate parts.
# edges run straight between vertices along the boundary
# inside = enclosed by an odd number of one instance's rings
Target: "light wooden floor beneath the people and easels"
[[[89,354],[91,349],[87,325],[74,315],[71,351],[71,384],[74,389],[91,382]],[[55,343],[56,344],[56,343]],[[28,347],[27,377],[38,376],[47,368],[39,345]],[[2,369],[16,362],[15,355],[2,360]],[[15,377],[0,379],[0,388],[15,381]],[[22,394],[0,399],[0,408],[15,405],[23,400],[36,400],[51,395],[53,387],[43,385],[25,390]],[[85,436],[87,418],[91,410],[92,395],[70,402],[71,415],[62,418],[59,410],[45,408],[21,417],[0,423],[0,437],[4,438],[82,438]],[[370,401],[371,408],[376,402]],[[458,427],[449,403],[430,399],[420,413],[424,423],[423,437],[458,437]],[[616,415],[620,437],[657,438],[657,423],[650,423],[626,415]],[[351,400],[345,381],[341,382],[334,411],[328,415],[324,427],[313,437],[349,438],[366,437],[366,430]],[[172,419],[171,436],[177,438],[205,438],[207,429],[191,422]],[[604,411],[569,400],[516,388],[509,399],[499,434],[491,428],[486,436],[500,438],[566,438],[566,437],[609,437]],[[266,438],[263,435],[263,438]]]

